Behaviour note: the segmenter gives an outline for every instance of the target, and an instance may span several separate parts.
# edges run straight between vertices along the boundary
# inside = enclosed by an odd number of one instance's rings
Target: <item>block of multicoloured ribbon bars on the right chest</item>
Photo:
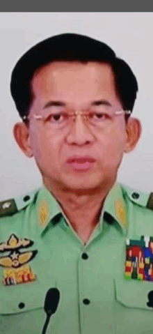
[[[127,239],[124,278],[153,282],[153,237]]]

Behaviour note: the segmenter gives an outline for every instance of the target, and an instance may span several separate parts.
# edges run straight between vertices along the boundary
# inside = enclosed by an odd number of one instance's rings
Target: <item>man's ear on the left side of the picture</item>
[[[29,136],[29,128],[26,126],[26,124],[24,124],[24,122],[19,122],[15,124],[13,128],[13,135],[15,137],[17,145],[19,146],[19,149],[21,149],[27,157],[33,157],[33,151],[31,149],[31,141]]]

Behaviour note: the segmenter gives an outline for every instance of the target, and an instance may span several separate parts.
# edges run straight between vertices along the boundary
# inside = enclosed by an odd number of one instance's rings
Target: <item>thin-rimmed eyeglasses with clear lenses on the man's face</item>
[[[86,121],[90,126],[94,128],[105,128],[113,123],[115,116],[120,116],[121,114],[131,114],[130,110],[120,110],[114,111],[113,108],[109,109],[100,108],[99,111],[89,111],[89,112],[44,112],[42,115],[31,115],[24,116],[23,120],[30,120],[34,118],[36,121],[41,121],[45,130],[50,130],[56,132],[64,128],[68,128],[75,120],[76,117],[83,116],[84,121]]]

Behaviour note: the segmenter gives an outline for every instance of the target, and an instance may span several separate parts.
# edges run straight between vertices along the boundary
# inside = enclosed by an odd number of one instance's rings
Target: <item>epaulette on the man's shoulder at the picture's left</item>
[[[33,202],[33,199],[39,190],[40,188],[31,192],[26,192],[26,194],[22,196],[6,199],[5,201],[0,202],[0,218],[6,215],[14,215],[22,210],[22,208],[25,208]]]

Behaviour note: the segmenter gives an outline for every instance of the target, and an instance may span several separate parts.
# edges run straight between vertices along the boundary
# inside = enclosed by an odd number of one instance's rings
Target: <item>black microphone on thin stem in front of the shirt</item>
[[[42,334],[46,333],[47,326],[49,324],[49,319],[51,315],[56,312],[59,300],[60,300],[60,291],[56,289],[55,287],[51,287],[51,289],[47,291],[46,298],[45,298],[44,310],[47,314],[47,319],[42,329]]]

